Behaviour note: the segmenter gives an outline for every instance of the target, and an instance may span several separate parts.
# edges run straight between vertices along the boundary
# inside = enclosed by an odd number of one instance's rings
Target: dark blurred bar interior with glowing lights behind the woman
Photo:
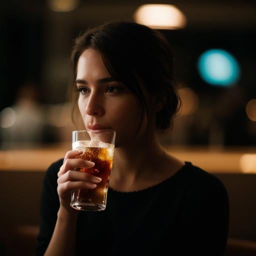
[[[230,199],[226,255],[250,255],[256,248],[255,13],[254,0],[2,1],[0,225],[8,235],[0,234],[0,254],[15,255],[13,241],[31,253],[44,171],[71,148],[72,40],[89,26],[125,20],[159,29],[170,42],[182,108],[161,142],[222,180]]]

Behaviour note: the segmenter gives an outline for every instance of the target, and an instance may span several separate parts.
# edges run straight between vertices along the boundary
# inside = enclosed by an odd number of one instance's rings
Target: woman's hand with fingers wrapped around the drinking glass
[[[93,162],[78,158],[82,151],[70,150],[66,152],[63,160],[63,165],[57,173],[57,192],[59,196],[60,207],[63,207],[67,212],[76,211],[70,206],[71,191],[73,189],[89,188],[93,189],[96,184],[101,181],[101,178],[91,174],[74,171],[76,167],[90,168],[94,166]]]

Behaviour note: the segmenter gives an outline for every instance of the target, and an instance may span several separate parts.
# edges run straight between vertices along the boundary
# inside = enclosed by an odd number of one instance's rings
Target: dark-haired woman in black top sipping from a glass
[[[80,35],[71,60],[85,127],[116,131],[107,206],[70,207],[73,189],[93,189],[100,180],[72,171],[94,163],[68,151],[44,178],[37,255],[223,255],[223,184],[171,156],[157,138],[179,105],[164,37],[136,23],[111,22]]]

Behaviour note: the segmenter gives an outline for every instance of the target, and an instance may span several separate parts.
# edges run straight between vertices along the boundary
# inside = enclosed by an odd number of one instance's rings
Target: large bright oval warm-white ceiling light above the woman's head
[[[143,4],[134,13],[137,23],[156,29],[178,29],[186,25],[185,15],[171,4]]]

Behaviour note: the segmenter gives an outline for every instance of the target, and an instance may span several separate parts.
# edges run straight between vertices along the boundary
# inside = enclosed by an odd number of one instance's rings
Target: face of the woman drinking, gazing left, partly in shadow
[[[80,55],[76,87],[86,129],[114,129],[116,147],[133,141],[141,119],[141,105],[125,85],[110,76],[99,51],[89,48]],[[143,126],[136,137],[143,135]]]

